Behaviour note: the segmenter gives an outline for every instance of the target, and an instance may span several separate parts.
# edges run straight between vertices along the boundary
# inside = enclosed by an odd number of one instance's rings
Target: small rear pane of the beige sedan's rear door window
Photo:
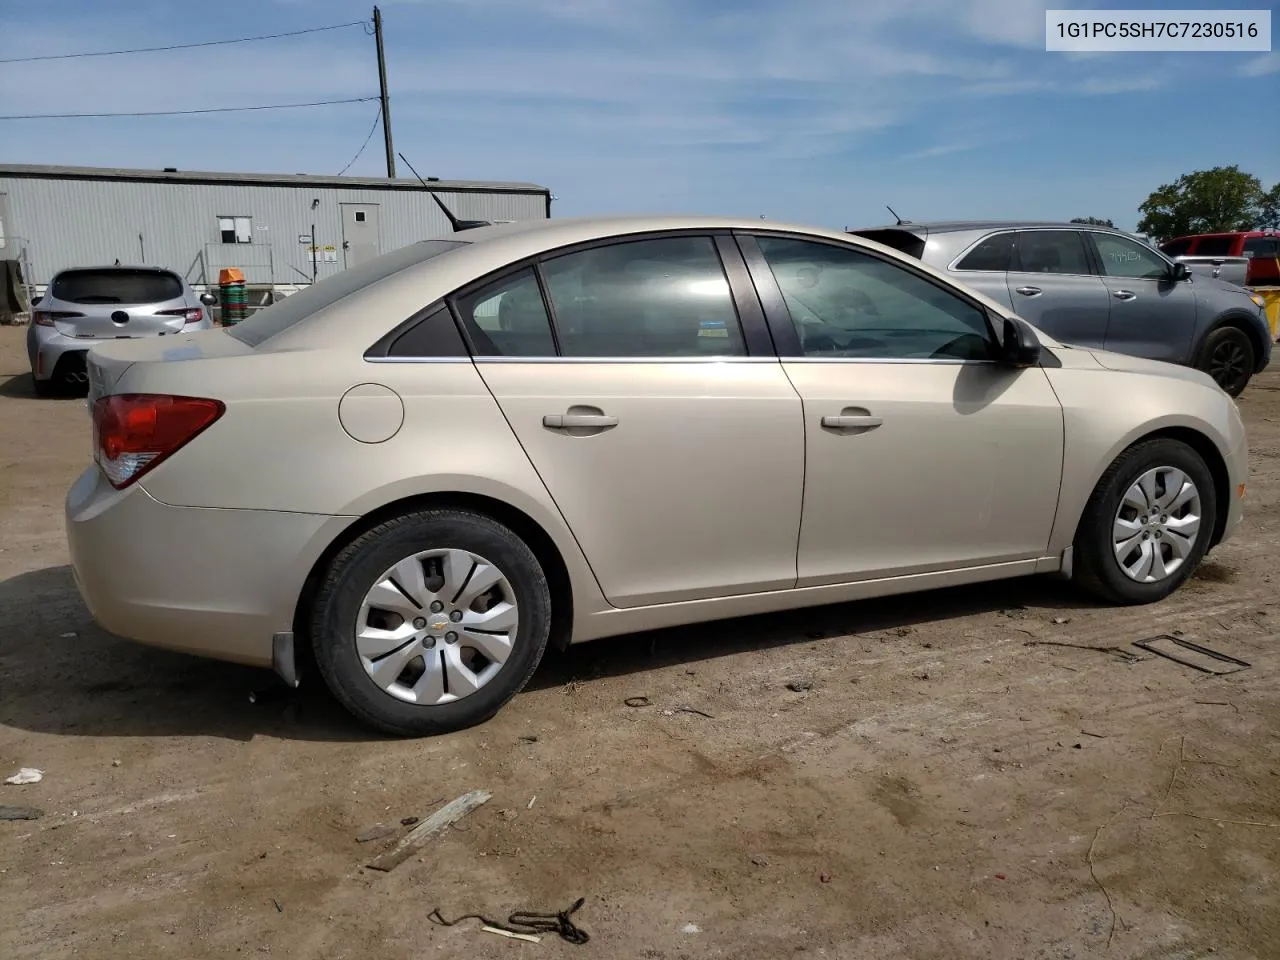
[[[556,356],[550,319],[532,268],[460,298],[457,308],[477,356]]]

